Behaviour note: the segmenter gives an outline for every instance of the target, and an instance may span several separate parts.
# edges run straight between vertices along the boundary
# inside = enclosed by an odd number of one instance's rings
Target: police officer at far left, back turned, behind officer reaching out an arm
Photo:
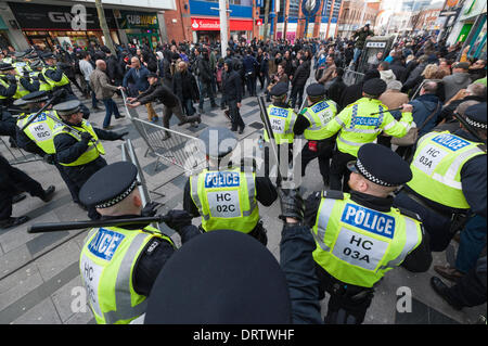
[[[76,184],[69,179],[62,166],[56,162],[53,131],[54,127],[62,123],[62,119],[57,116],[57,113],[48,108],[39,114],[29,126],[22,130],[31,117],[46,105],[46,102],[48,101],[48,93],[46,91],[31,92],[18,101],[22,102],[23,106],[28,107],[26,113],[20,115],[17,118],[16,141],[18,146],[29,153],[42,156],[44,162],[54,165],[60,171],[61,178],[66,183],[69,193],[72,194],[73,202],[80,204],[78,197],[79,189],[76,188]],[[14,104],[21,103],[15,102]]]

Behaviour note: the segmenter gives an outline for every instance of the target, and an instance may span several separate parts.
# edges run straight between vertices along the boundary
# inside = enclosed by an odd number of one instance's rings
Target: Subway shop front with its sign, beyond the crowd
[[[118,27],[125,30],[129,43],[156,48],[160,42],[159,23],[155,12],[114,10]]]

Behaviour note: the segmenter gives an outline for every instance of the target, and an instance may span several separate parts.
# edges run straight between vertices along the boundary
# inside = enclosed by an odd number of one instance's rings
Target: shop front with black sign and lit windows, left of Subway
[[[29,44],[53,49],[54,46],[86,48],[90,42],[105,43],[94,8],[86,8],[87,22],[84,27],[76,22],[70,7],[16,2],[9,2],[9,5]],[[115,17],[111,10],[105,10],[105,18],[112,40],[119,43]]]

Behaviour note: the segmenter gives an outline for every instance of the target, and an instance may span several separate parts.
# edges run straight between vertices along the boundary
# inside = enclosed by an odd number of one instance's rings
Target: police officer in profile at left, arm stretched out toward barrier
[[[123,140],[128,132],[116,133],[93,128],[82,118],[81,102],[78,100],[56,104],[53,110],[63,120],[53,131],[56,161],[63,166],[63,170],[74,182],[75,189],[81,185],[97,170],[106,166],[105,150],[100,142],[102,140]],[[94,208],[88,208],[88,216],[92,219],[99,217]]]

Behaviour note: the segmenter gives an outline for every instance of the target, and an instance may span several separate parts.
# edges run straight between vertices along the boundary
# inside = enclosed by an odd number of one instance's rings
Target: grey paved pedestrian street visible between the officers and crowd
[[[119,110],[126,113],[121,99],[115,100]],[[90,106],[90,100],[84,100]],[[220,105],[220,100],[217,99]],[[237,134],[244,139],[255,140],[261,133],[261,121],[256,98],[243,100],[241,114],[246,128]],[[155,104],[162,125],[163,105]],[[230,121],[220,108],[210,110],[209,101],[205,101],[205,114],[198,128],[190,125],[179,127],[176,116],[171,118],[170,128],[185,134],[196,137],[206,127],[230,127]],[[146,119],[144,106],[137,108],[141,119]],[[97,127],[102,126],[104,111],[92,113],[90,121]],[[112,119],[114,131],[129,131],[136,154],[147,182],[151,197],[164,203],[159,209],[166,213],[172,208],[182,208],[182,195],[188,177],[178,166],[168,161],[159,159],[156,167],[156,156],[146,153],[143,139],[136,131],[126,115],[123,119]],[[121,159],[121,141],[103,142],[107,163]],[[1,145],[1,143],[0,143]],[[257,146],[257,145],[256,145]],[[9,156],[5,148],[0,146],[2,155]],[[8,157],[9,158],[9,157]],[[30,221],[16,228],[0,230],[0,323],[1,324],[92,324],[93,316],[86,306],[85,291],[79,274],[79,253],[87,230],[29,234],[27,228],[39,222],[59,222],[88,219],[85,210],[72,202],[69,192],[60,179],[54,166],[42,161],[17,165],[30,177],[42,183],[46,189],[50,184],[56,188],[54,198],[43,203],[39,198],[27,196],[15,204],[13,216],[27,215]],[[307,197],[312,191],[322,190],[322,178],[317,161],[307,167],[301,191]],[[110,182],[107,182],[110,183]],[[162,196],[164,195],[164,196]],[[282,221],[279,201],[270,207],[260,208],[265,228],[268,230],[268,248],[279,259],[279,243]],[[201,219],[193,219],[200,225]],[[170,235],[179,245],[179,235],[162,225],[162,230]],[[453,254],[457,243],[453,242],[448,253]],[[435,274],[434,265],[446,264],[446,253],[434,253],[434,262],[424,273],[410,273],[402,268],[390,270],[380,283],[371,308],[367,312],[367,324],[455,324],[475,323],[479,315],[486,315],[486,304],[476,308],[464,308],[457,311],[437,296],[429,285],[429,279]],[[449,257],[449,256],[448,256]],[[446,280],[444,280],[446,281]],[[258,294],[258,293],[257,293]],[[326,299],[322,302],[322,315],[326,311]]]

